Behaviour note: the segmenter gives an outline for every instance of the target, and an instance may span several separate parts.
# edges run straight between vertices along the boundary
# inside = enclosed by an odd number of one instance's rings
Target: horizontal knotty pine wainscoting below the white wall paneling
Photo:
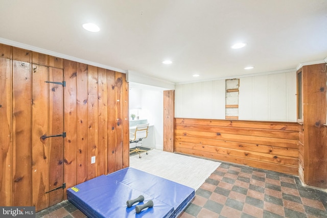
[[[299,124],[175,118],[174,151],[298,175]]]

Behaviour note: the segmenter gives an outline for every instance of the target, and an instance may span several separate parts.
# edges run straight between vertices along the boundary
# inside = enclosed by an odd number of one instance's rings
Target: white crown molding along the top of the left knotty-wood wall
[[[46,49],[41,49],[39,47],[35,47],[35,46],[32,46],[32,45],[28,45],[28,44],[24,44],[24,43],[20,43],[20,42],[16,42],[16,41],[11,41],[11,40],[4,39],[4,38],[0,38],[0,43],[11,45],[11,46],[14,46],[14,47],[19,47],[20,49],[26,49],[26,50],[33,51],[33,52],[42,53],[42,54],[45,54],[45,55],[51,55],[51,56],[54,56],[54,57],[63,58],[63,59],[66,59],[66,60],[71,60],[71,61],[76,61],[76,62],[83,63],[83,64],[97,66],[97,67],[101,67],[101,68],[104,68],[104,69],[110,69],[110,70],[117,71],[117,72],[123,72],[124,74],[127,73],[127,70],[124,70],[124,69],[115,68],[115,67],[108,66],[108,65],[105,65],[105,64],[100,64],[100,63],[97,63],[97,62],[87,61],[87,60],[84,60],[84,59],[81,59],[81,58],[76,58],[76,57],[72,57],[72,56],[69,56],[69,55],[60,54],[60,53],[57,53],[57,52],[53,52],[53,51],[46,50]]]

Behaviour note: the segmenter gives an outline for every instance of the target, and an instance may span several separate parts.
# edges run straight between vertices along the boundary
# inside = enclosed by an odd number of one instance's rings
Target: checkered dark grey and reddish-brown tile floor
[[[327,217],[326,209],[327,192],[303,187],[298,177],[222,163],[179,218],[311,218]],[[86,216],[69,201],[63,201],[37,212],[36,217]]]

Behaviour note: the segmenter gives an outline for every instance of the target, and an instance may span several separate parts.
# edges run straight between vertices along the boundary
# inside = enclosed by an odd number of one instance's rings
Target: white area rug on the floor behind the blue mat
[[[197,190],[217,169],[220,162],[190,157],[161,150],[151,150],[142,158],[129,159],[130,167],[169,179]]]

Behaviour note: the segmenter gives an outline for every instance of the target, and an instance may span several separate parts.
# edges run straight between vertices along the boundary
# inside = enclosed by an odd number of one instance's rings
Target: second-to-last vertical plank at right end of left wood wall
[[[123,168],[123,77],[121,72],[115,72],[115,100],[116,100],[116,171]]]

